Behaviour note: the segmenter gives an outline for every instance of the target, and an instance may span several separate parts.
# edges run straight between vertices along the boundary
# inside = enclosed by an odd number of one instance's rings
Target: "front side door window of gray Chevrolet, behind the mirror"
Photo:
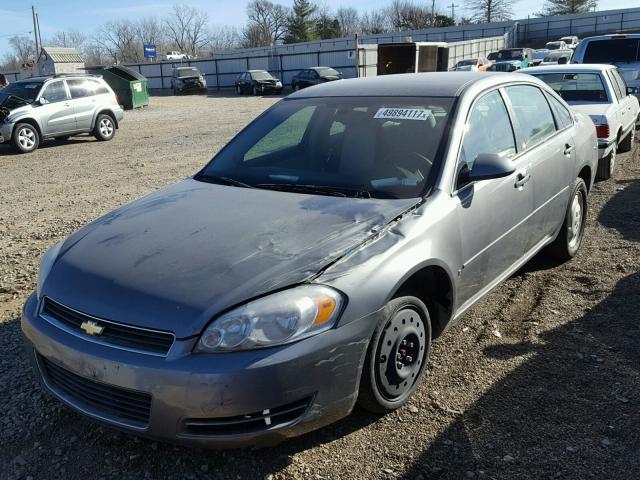
[[[494,153],[505,158],[516,154],[509,114],[497,90],[481,97],[472,107],[460,151],[460,161],[473,169],[478,155]]]

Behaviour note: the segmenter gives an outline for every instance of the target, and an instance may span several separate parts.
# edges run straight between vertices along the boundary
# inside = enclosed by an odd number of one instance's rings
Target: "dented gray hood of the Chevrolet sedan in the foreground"
[[[189,337],[229,307],[309,280],[416,203],[188,179],[71,235],[41,293]]]

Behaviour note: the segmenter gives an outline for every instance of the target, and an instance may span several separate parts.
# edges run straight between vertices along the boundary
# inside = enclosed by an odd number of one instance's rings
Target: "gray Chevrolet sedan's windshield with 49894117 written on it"
[[[429,97],[284,100],[195,178],[320,195],[419,197],[437,174],[453,103]]]

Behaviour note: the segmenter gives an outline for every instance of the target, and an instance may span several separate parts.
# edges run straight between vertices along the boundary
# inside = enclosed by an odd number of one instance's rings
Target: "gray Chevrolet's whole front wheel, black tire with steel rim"
[[[365,357],[360,406],[388,413],[404,405],[420,384],[430,351],[431,319],[425,304],[411,296],[387,303]]]

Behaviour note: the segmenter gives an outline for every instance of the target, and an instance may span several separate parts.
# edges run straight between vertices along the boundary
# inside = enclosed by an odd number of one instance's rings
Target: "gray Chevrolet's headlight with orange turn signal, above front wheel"
[[[343,297],[322,285],[303,285],[249,302],[215,319],[196,352],[251,350],[295,342],[335,325]]]

